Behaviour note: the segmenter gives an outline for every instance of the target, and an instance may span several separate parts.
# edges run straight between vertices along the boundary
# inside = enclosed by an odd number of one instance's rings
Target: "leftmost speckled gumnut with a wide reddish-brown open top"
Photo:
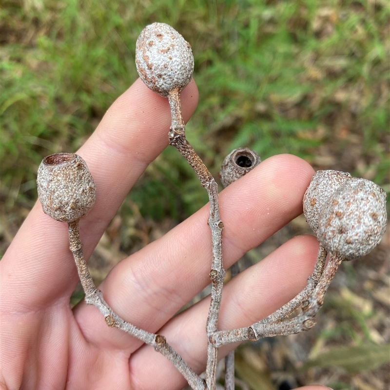
[[[96,185],[87,164],[73,153],[47,156],[37,176],[44,213],[60,222],[73,222],[94,206]]]

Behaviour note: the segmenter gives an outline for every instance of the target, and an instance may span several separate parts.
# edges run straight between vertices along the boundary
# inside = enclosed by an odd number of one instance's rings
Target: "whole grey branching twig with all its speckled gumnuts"
[[[180,105],[180,92],[190,82],[194,70],[191,46],[172,27],[153,23],[145,27],[137,39],[136,65],[143,82],[157,94],[168,98],[172,116],[168,135],[170,144],[186,158],[209,195],[208,225],[212,242],[209,276],[212,292],[206,321],[205,380],[170,347],[163,335],[144,331],[120,318],[96,288],[84,260],[78,232],[79,219],[92,209],[96,197],[96,186],[85,161],[71,153],[44,158],[37,178],[39,199],[46,214],[68,223],[70,250],[85,291],[85,301],[98,308],[107,326],[121,329],[154,347],[175,365],[193,389],[215,390],[218,348],[222,345],[312,328],[340,263],[368,254],[381,240],[387,223],[386,194],[369,180],[351,178],[350,174],[343,172],[318,171],[303,199],[304,214],[320,242],[317,261],[307,286],[290,302],[253,325],[219,331],[218,315],[225,270],[218,186],[185,137]],[[234,150],[222,164],[220,178],[223,186],[230,185],[259,163],[260,158],[254,151],[247,148]],[[327,254],[329,259],[326,263]],[[236,273],[237,269],[233,268],[232,277]],[[298,308],[301,312],[289,319]],[[225,389],[234,390],[234,351],[225,360]]]

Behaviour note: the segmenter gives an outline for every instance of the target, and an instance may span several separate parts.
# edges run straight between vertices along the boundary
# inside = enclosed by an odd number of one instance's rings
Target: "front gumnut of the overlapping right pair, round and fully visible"
[[[370,180],[351,178],[331,195],[318,221],[318,241],[347,259],[364,256],[386,230],[386,193]]]

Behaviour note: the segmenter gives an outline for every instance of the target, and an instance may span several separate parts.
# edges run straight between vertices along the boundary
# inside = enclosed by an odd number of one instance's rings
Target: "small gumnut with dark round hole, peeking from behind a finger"
[[[249,148],[234,149],[222,162],[219,177],[223,187],[227,187],[235,180],[252,171],[255,166],[260,164],[260,157]]]

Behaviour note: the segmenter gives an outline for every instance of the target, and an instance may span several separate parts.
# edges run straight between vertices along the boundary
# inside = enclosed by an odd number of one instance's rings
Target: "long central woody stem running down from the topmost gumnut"
[[[207,317],[206,332],[208,339],[207,346],[207,366],[206,384],[207,389],[214,390],[216,382],[216,368],[218,361],[218,351],[210,341],[211,336],[218,331],[218,313],[221,305],[223,280],[225,270],[222,264],[222,230],[223,223],[219,218],[218,206],[218,186],[214,177],[208,171],[203,161],[196,154],[194,148],[185,137],[185,126],[181,114],[180,94],[178,90],[173,90],[168,95],[171,107],[172,125],[169,132],[171,145],[181,153],[188,161],[198,176],[201,185],[207,190],[210,200],[210,216],[208,225],[211,229],[212,238],[212,265],[210,279],[212,280],[211,303],[209,315]]]

